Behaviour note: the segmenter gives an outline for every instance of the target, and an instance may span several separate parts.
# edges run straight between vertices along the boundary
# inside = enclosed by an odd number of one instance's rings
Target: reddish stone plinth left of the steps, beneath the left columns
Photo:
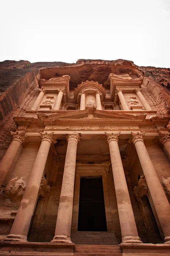
[[[0,241],[0,256],[73,256],[74,243]]]

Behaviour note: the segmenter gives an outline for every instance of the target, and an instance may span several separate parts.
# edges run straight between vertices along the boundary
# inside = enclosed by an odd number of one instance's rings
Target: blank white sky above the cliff
[[[4,0],[0,61],[170,67],[170,0]]]

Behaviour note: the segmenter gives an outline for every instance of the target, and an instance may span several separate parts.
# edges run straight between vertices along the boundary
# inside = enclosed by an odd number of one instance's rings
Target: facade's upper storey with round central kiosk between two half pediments
[[[129,76],[130,78],[130,76]],[[152,111],[142,94],[142,79],[126,79],[110,74],[110,88],[97,81],[83,81],[70,92],[68,75],[40,79],[40,93],[31,106],[31,111],[65,111],[93,108],[102,110]]]

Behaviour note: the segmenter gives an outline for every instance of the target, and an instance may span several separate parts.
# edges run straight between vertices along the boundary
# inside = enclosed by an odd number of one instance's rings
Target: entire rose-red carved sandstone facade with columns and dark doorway
[[[130,61],[23,65],[2,108],[0,255],[169,255],[169,91]]]

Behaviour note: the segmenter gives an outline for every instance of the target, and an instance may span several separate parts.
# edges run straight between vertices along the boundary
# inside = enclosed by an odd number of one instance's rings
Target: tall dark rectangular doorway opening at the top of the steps
[[[102,177],[80,179],[78,231],[107,231]]]

